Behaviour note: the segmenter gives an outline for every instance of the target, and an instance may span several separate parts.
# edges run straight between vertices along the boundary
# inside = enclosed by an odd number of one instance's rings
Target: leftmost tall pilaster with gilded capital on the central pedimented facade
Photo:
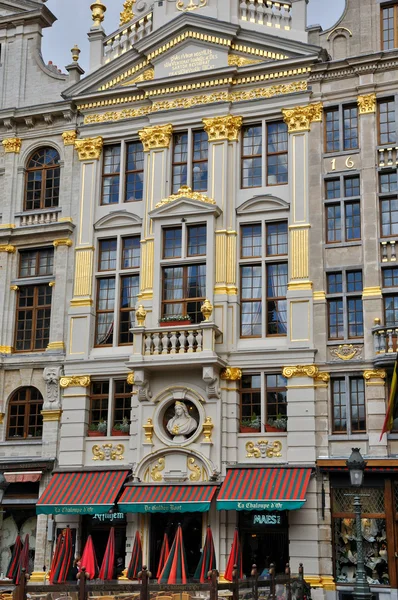
[[[76,140],[75,148],[81,161],[81,180],[67,353],[74,358],[83,358],[89,351],[93,305],[93,215],[99,195],[102,137]]]

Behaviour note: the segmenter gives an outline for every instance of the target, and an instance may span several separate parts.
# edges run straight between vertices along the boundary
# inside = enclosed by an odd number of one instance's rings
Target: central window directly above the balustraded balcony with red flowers
[[[183,321],[186,317],[201,323],[200,309],[206,299],[206,225],[167,227],[162,234],[162,319]],[[190,262],[182,265],[181,259]]]

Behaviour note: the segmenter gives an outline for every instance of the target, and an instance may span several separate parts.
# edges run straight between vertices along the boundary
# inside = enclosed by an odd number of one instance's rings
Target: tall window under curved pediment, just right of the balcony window
[[[241,225],[240,248],[241,337],[285,336],[287,221]]]

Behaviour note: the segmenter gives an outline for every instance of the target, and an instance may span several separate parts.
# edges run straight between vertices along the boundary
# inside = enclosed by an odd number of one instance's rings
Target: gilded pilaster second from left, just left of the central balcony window
[[[144,183],[145,214],[141,239],[140,300],[153,298],[154,237],[149,217],[155,205],[168,195],[166,189],[168,151],[173,135],[172,125],[145,127],[138,132],[144,146],[146,174]]]

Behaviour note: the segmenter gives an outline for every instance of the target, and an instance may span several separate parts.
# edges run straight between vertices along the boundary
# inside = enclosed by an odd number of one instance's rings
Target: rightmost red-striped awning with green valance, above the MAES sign
[[[308,468],[230,469],[217,498],[218,510],[296,510],[305,503]]]

